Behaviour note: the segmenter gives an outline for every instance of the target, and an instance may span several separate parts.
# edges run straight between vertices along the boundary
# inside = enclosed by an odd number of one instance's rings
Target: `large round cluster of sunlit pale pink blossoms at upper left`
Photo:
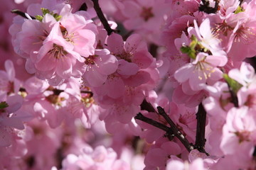
[[[18,54],[27,59],[27,71],[55,86],[64,79],[81,77],[84,57],[95,50],[95,25],[86,13],[73,14],[68,8],[64,5],[57,10],[63,15],[60,21],[49,13],[42,21],[26,20],[14,41]]]

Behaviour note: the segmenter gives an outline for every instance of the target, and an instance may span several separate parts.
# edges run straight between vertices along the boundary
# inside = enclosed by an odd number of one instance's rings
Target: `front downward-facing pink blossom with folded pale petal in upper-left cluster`
[[[67,42],[60,32],[60,23],[55,23],[53,30],[38,51],[35,63],[38,77],[40,79],[53,79],[49,80],[50,84],[58,85],[63,79],[72,76],[73,69],[82,69],[76,63],[83,62],[84,59],[73,50],[75,50],[73,45]]]

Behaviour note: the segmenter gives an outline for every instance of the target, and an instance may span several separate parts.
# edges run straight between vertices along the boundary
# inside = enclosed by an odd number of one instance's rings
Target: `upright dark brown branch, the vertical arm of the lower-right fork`
[[[196,149],[198,151],[206,153],[205,145],[206,145],[206,110],[203,108],[203,104],[200,103],[198,106],[198,113],[196,113]]]

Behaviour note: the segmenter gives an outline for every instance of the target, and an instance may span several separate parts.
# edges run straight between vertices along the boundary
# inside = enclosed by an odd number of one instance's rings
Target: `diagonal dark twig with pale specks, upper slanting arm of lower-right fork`
[[[178,140],[181,141],[181,143],[184,145],[184,147],[186,147],[188,152],[191,152],[191,150],[194,149],[193,145],[190,142],[188,142],[186,137],[181,133],[181,131],[178,130],[173,120],[171,120],[169,115],[167,115],[166,112],[164,111],[164,108],[158,106],[157,110],[159,111],[159,115],[163,116],[166,122],[169,123],[169,125],[171,126],[171,132],[173,132],[174,135],[178,138]]]

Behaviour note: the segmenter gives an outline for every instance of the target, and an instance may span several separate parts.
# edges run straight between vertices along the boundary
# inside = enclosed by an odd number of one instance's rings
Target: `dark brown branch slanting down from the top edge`
[[[95,8],[97,16],[100,18],[100,21],[102,22],[105,30],[107,30],[107,35],[110,35],[112,32],[114,32],[114,30],[112,30],[112,28],[110,28],[110,25],[107,23],[107,19],[105,18],[104,14],[102,13],[102,9],[100,8],[99,1],[92,0],[92,2],[94,5],[93,8]]]

